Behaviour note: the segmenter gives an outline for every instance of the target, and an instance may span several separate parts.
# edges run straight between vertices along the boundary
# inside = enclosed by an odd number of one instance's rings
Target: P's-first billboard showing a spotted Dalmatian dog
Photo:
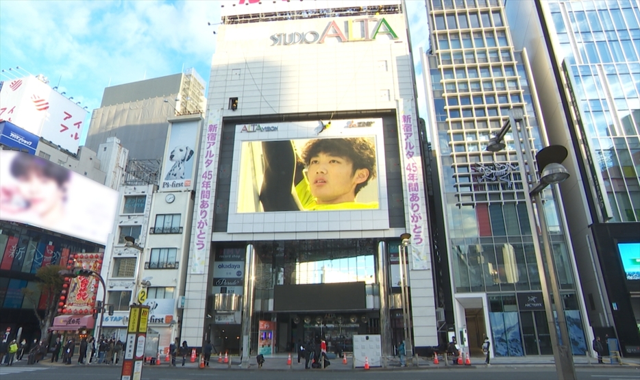
[[[198,125],[199,121],[194,120],[171,123],[169,142],[164,150],[160,191],[193,188]]]

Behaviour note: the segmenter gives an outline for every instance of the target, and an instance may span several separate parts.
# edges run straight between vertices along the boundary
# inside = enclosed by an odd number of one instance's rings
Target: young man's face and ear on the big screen
[[[358,169],[346,157],[319,153],[311,157],[307,177],[311,194],[319,205],[354,202],[356,185],[367,180],[369,170]]]

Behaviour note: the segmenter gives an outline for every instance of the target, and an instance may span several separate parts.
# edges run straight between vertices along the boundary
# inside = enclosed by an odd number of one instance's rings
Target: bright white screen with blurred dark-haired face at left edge
[[[0,218],[106,244],[118,192],[42,157],[0,151]]]

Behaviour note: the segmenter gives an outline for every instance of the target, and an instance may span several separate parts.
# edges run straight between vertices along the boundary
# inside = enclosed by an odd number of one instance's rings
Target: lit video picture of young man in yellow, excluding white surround
[[[238,212],[378,210],[376,138],[245,141]]]

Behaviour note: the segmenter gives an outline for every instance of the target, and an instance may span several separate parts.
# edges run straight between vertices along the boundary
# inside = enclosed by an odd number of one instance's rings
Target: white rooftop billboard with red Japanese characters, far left
[[[0,90],[0,121],[10,121],[72,153],[77,153],[87,113],[36,77],[5,81]]]

